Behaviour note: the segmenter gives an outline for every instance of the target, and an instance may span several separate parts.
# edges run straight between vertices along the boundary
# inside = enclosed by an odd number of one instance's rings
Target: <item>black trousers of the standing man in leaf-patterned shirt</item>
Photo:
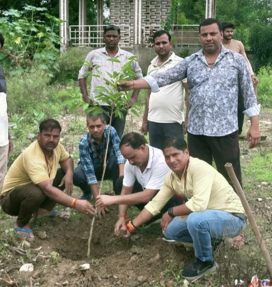
[[[231,163],[242,186],[240,149],[237,135],[238,131],[224,136],[192,135],[188,133],[188,149],[191,156],[198,157],[210,165],[212,165],[214,159],[217,170],[232,185],[225,169],[225,163]]]

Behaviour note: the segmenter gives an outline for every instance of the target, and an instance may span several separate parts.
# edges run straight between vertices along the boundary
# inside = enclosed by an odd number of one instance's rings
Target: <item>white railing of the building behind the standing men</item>
[[[103,47],[104,25],[72,25],[69,26],[69,44],[78,47]],[[119,25],[121,32],[120,47],[132,47],[134,37],[130,25]],[[198,25],[174,25],[170,31],[174,47],[199,47]],[[151,31],[162,29],[157,26],[142,26],[141,47],[153,47]],[[139,44],[139,43],[137,43]]]

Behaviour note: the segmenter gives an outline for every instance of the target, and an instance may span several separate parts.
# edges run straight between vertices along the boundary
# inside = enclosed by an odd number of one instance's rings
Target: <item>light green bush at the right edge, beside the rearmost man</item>
[[[257,74],[260,83],[258,84],[258,101],[263,107],[272,107],[272,67],[261,67]]]

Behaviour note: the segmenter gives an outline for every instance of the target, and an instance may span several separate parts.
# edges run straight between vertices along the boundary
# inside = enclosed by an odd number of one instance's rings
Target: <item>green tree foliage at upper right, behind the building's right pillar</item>
[[[205,18],[205,1],[173,0],[164,29],[174,25],[199,24]],[[236,25],[234,39],[242,41],[246,50],[254,53],[255,71],[272,62],[272,1],[219,0],[216,18]]]

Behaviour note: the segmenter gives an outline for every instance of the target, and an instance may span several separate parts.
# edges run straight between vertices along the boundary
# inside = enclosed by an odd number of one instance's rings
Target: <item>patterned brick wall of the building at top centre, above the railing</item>
[[[170,13],[171,0],[141,0],[141,22],[137,23],[136,27],[136,3],[138,3],[136,0],[110,0],[111,24],[120,26],[121,35],[130,34],[129,43],[125,43],[126,46],[135,44],[135,29],[138,31],[138,25],[141,27],[141,41],[145,42],[143,36],[148,37],[152,29],[160,29],[162,20],[166,20]],[[130,31],[123,29],[127,25],[130,25]]]

